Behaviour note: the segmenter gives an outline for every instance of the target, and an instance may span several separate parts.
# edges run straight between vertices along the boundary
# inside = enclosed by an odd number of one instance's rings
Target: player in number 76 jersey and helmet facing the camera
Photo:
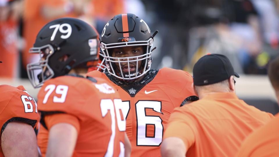
[[[198,99],[192,76],[171,68],[151,69],[153,37],[143,19],[119,14],[103,28],[101,50],[108,72],[87,76],[112,81],[123,100],[131,156],[160,156],[171,111]],[[187,102],[188,101],[188,102]]]

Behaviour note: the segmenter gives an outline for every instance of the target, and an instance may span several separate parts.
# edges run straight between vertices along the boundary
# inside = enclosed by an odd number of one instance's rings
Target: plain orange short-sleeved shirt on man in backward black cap
[[[209,94],[176,108],[164,139],[182,139],[187,157],[234,156],[246,136],[271,117],[238,99],[235,93]]]

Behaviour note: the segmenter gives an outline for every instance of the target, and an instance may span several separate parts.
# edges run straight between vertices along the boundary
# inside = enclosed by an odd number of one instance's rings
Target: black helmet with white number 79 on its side
[[[39,53],[40,61],[27,65],[34,88],[51,78],[68,74],[75,67],[88,68],[99,59],[99,35],[95,29],[75,18],[56,19],[38,33],[29,53]]]

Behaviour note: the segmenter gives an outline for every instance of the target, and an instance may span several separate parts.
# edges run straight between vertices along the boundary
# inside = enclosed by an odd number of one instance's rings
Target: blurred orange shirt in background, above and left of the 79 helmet
[[[29,49],[33,47],[37,34],[45,24],[61,17],[76,17],[74,13],[69,13],[53,19],[45,19],[42,16],[41,12],[43,6],[64,9],[66,1],[67,0],[25,0],[23,36],[26,40],[26,45],[24,52],[22,53],[24,67],[26,67],[28,63],[34,62],[34,54],[29,53]]]

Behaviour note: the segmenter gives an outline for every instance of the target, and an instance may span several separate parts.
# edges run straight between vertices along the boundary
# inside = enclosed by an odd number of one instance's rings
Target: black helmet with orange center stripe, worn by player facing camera
[[[135,80],[146,74],[151,68],[151,49],[153,46],[153,36],[151,31],[143,19],[134,14],[119,14],[113,17],[104,27],[101,34],[101,53],[100,56],[105,58],[105,65],[108,72],[122,80]],[[134,57],[116,58],[112,57],[112,49],[127,46],[143,46],[144,54]],[[142,64],[138,65],[138,61],[142,60]],[[136,70],[130,72],[122,72],[120,63],[136,62]],[[116,64],[118,63],[118,64]],[[116,66],[120,67],[120,71]]]

